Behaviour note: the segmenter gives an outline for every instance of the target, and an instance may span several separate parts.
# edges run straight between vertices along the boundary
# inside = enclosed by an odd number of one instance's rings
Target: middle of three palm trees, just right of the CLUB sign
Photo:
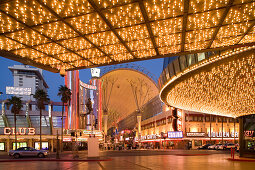
[[[42,89],[37,89],[34,98],[36,99],[36,105],[40,109],[40,149],[42,149],[42,110],[45,109],[45,103],[48,103],[50,99],[48,98],[47,92]]]

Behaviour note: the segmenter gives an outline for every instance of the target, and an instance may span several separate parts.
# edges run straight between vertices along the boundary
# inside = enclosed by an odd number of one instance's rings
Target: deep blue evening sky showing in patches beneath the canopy
[[[144,67],[147,71],[154,74],[157,78],[160,76],[163,68],[163,58],[138,61],[133,62],[133,64]],[[3,95],[0,96],[0,99],[7,98],[6,96],[6,86],[13,86],[13,77],[11,71],[8,69],[8,66],[21,65],[22,63],[6,59],[0,56],[0,92],[3,92]],[[106,66],[107,67],[107,66]],[[91,78],[90,69],[83,69],[79,71],[81,81],[87,83]],[[43,76],[47,82],[49,89],[48,95],[52,101],[60,101],[60,97],[57,96],[58,88],[60,85],[64,85],[64,78],[60,76],[59,73],[52,73],[49,71],[43,70]]]

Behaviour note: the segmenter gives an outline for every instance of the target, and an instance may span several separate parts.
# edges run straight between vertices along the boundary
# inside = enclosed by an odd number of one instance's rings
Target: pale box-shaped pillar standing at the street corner
[[[98,138],[94,135],[88,138],[88,157],[99,157]]]

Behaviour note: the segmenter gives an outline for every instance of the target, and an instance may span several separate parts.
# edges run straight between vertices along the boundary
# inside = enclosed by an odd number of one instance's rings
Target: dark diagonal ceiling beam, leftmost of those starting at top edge
[[[66,22],[62,17],[60,17],[53,9],[45,5],[41,0],[35,0],[37,3],[39,3],[41,6],[43,6],[46,10],[48,10],[52,15],[54,15],[58,20],[62,21],[64,24],[69,26],[74,32],[76,32],[80,37],[88,41],[92,46],[97,48],[100,52],[102,52],[105,56],[107,56],[110,60],[114,61],[107,53],[105,53],[102,49],[100,49],[96,44],[94,44],[92,41],[90,41],[87,37],[85,37],[80,31],[78,31],[76,28],[74,28],[71,24]],[[82,57],[83,58],[83,57]],[[90,63],[92,63],[90,60],[87,59]],[[94,64],[94,63],[93,63]]]

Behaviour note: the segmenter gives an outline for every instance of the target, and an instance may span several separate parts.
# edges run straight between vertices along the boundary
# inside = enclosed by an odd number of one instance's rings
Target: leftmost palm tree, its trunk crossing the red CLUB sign
[[[16,115],[19,114],[22,108],[22,101],[19,97],[12,96],[11,99],[7,100],[7,105],[11,106],[11,112],[14,113],[14,129],[15,129],[15,150],[17,150],[17,131],[16,131]]]

